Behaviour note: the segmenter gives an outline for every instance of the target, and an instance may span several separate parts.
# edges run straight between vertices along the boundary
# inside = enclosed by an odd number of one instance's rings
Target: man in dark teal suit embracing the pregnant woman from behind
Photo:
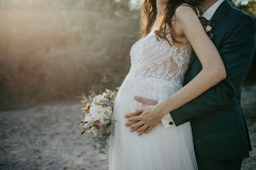
[[[243,158],[248,157],[251,151],[240,96],[255,52],[256,26],[254,19],[232,7],[227,0],[205,0],[198,8],[202,17],[216,21],[212,40],[223,59],[227,78],[164,117],[156,115],[150,124],[144,124],[146,126],[143,127],[147,128],[134,125],[138,122],[137,117],[154,107],[157,101],[135,97],[146,106],[126,115],[126,127],[141,135],[148,133],[160,121],[164,128],[175,128],[190,121],[199,170],[238,170]],[[184,85],[201,70],[202,65],[193,53]],[[148,120],[145,115],[141,121]]]

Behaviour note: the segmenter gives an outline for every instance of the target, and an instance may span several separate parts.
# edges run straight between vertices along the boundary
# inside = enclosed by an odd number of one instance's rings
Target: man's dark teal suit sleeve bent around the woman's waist
[[[234,100],[251,66],[256,46],[255,22],[251,17],[244,16],[237,20],[238,26],[230,29],[219,51],[227,78],[188,104],[171,111],[175,125],[217,112]]]

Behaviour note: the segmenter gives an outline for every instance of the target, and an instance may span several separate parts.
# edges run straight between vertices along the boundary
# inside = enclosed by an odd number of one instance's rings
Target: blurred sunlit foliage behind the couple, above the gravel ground
[[[256,2],[230,1],[256,18]],[[140,38],[139,0],[1,0],[0,107],[74,100],[112,88],[130,69]],[[246,83],[255,83],[255,58]]]

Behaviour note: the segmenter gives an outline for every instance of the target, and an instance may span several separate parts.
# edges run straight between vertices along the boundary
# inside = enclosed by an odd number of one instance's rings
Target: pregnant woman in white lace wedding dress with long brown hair
[[[180,107],[225,79],[220,54],[198,19],[195,6],[201,2],[140,2],[142,38],[130,51],[130,71],[116,96],[113,114],[116,122],[109,141],[109,170],[197,169],[189,122],[164,128],[159,120],[150,133],[138,136],[126,128],[125,115],[142,107],[135,96],[161,101],[177,93],[184,98],[190,92],[185,100],[173,101],[175,107]],[[192,48],[203,69],[182,88]],[[142,128],[143,125],[140,124]]]

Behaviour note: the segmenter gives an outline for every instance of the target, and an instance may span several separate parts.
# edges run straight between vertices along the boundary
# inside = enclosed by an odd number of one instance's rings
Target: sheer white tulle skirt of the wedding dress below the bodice
[[[149,93],[137,95],[150,98]],[[159,123],[149,134],[140,137],[136,131],[130,133],[124,116],[142,107],[133,97],[134,93],[120,91],[116,96],[113,119],[117,122],[109,140],[109,170],[197,169],[190,122],[170,128]]]

